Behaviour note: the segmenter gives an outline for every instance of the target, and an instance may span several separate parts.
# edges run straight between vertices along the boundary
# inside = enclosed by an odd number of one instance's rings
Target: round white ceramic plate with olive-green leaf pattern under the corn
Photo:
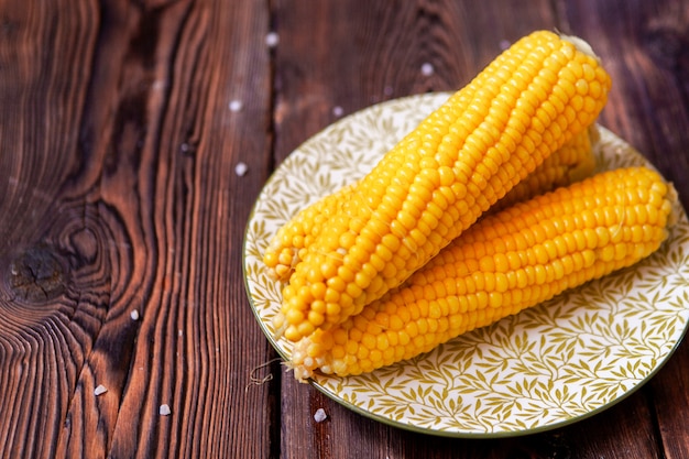
[[[281,285],[261,262],[271,237],[299,209],[356,181],[448,94],[380,103],[325,129],[291,154],[266,183],[244,241],[248,295],[273,338]],[[647,164],[601,128],[599,168]],[[500,437],[559,427],[598,413],[648,381],[681,340],[689,320],[689,222],[639,264],[540,306],[463,335],[416,359],[313,384],[342,405],[412,430]]]

